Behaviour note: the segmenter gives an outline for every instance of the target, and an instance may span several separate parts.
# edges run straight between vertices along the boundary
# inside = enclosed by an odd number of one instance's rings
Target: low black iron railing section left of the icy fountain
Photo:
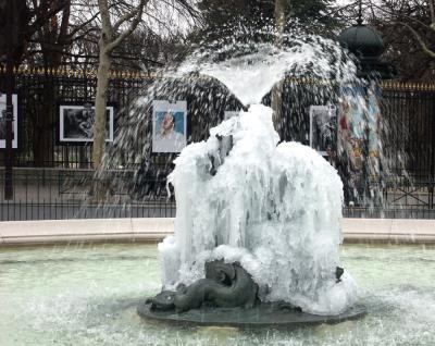
[[[4,186],[0,170],[0,186]],[[0,191],[0,221],[99,218],[172,218],[175,200],[166,189],[166,174],[138,176],[137,171],[113,170],[103,202],[89,194],[94,171],[87,169],[14,169],[14,197]]]

